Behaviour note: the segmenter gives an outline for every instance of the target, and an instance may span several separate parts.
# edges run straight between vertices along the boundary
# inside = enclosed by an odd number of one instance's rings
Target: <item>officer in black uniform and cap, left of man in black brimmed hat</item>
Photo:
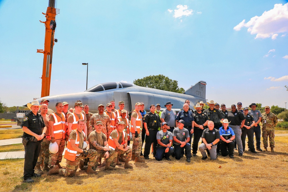
[[[248,113],[248,107],[245,107],[243,110],[244,116],[245,116],[245,123],[242,128],[242,134],[241,134],[241,140],[242,140],[242,145],[243,145],[243,151],[245,151],[245,140],[246,140],[246,135],[248,136],[248,148],[249,151],[252,153],[257,153],[255,151],[254,147],[254,130],[253,126],[255,125],[254,118],[251,114]]]

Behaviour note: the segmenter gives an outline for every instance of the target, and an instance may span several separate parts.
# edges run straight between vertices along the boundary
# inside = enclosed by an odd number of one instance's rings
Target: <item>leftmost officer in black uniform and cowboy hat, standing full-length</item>
[[[27,103],[27,107],[31,112],[25,115],[21,126],[24,132],[23,145],[25,149],[24,161],[24,182],[32,183],[34,180],[31,177],[40,177],[40,174],[34,172],[37,159],[41,149],[41,141],[45,136],[45,123],[37,112],[39,110],[39,102],[37,100]]]

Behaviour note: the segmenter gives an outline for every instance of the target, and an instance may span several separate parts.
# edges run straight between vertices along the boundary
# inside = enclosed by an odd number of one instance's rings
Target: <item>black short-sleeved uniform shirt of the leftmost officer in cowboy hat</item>
[[[30,113],[28,113],[27,115],[24,116],[20,127],[23,128],[23,126],[27,127],[33,133],[40,135],[40,134],[42,134],[42,128],[45,127],[45,123],[44,123],[41,115],[39,115],[38,113],[37,113],[37,115],[34,115],[34,113],[31,111]],[[32,137],[32,135],[29,135],[25,132],[24,132],[24,136]]]

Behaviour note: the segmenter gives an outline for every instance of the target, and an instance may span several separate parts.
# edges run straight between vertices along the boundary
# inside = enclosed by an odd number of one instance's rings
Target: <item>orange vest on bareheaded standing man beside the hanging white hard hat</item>
[[[65,139],[66,134],[66,127],[65,127],[65,114],[62,112],[62,118],[59,117],[56,113],[52,113],[54,117],[54,124],[53,124],[53,133],[55,139]]]

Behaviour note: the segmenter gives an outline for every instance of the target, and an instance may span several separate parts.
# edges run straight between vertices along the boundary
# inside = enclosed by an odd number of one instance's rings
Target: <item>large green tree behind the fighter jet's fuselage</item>
[[[164,75],[146,76],[142,79],[135,79],[133,83],[141,87],[148,87],[176,93],[183,93],[185,91],[183,88],[178,87],[178,81],[169,79]]]

